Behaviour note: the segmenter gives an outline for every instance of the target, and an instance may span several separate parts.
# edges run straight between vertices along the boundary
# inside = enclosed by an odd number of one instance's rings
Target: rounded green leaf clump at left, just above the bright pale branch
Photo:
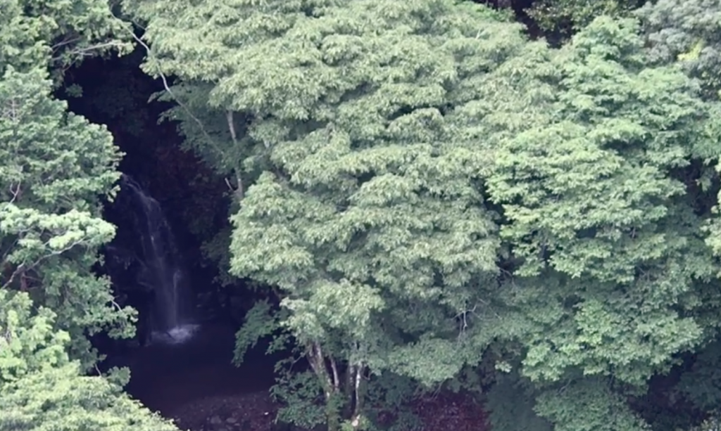
[[[6,201],[36,199],[43,209],[95,212],[87,200],[107,193],[120,153],[105,127],[66,114],[50,99],[47,72],[9,68],[0,81],[0,181]]]

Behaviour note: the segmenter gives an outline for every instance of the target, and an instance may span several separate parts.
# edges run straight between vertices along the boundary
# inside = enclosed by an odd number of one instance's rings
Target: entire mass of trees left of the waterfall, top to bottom
[[[105,127],[67,112],[65,68],[127,47],[105,0],[0,0],[0,430],[172,431],[86,376],[88,335],[133,334],[133,310],[92,272],[115,235],[100,217],[120,152]],[[127,376],[125,376],[127,378]]]

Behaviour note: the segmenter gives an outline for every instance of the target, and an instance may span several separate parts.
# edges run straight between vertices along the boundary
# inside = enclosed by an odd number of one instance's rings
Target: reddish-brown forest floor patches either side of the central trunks
[[[273,431],[278,407],[267,391],[215,396],[193,401],[167,412],[181,430]],[[461,394],[440,394],[413,405],[423,427],[409,431],[485,431],[486,414],[480,404]]]

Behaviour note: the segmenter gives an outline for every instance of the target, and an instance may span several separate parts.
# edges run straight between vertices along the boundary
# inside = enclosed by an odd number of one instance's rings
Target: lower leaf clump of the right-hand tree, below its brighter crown
[[[617,301],[611,301],[614,304]],[[613,376],[643,386],[669,358],[690,349],[702,336],[693,319],[659,310],[639,316],[632,307],[596,299],[578,304],[575,316],[539,332],[523,359],[523,373],[534,381],[557,381],[578,369],[586,376]],[[569,319],[573,319],[572,322]]]

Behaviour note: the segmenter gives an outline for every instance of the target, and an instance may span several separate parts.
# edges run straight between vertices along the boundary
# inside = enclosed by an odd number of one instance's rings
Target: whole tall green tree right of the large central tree
[[[625,400],[716,333],[709,191],[694,189],[718,157],[709,106],[650,64],[634,20],[608,17],[560,50],[528,45],[482,89],[465,109],[518,259],[487,325],[555,430],[647,429]]]

